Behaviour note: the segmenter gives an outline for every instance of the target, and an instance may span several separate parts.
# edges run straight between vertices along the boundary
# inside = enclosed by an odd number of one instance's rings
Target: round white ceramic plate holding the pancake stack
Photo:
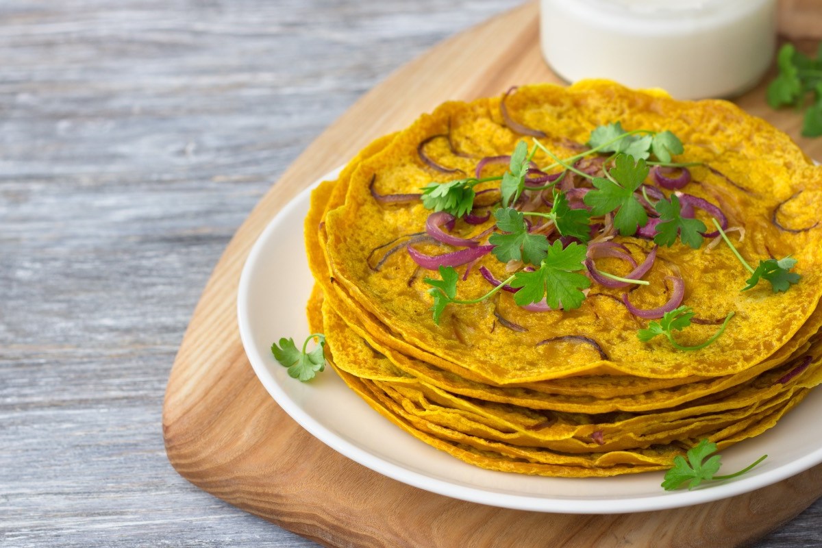
[[[337,173],[323,178],[333,179]],[[252,248],[238,292],[240,335],[256,375],[279,406],[346,457],[456,499],[558,513],[644,512],[700,504],[768,486],[822,463],[822,436],[815,432],[822,417],[822,389],[764,435],[723,452],[721,473],[736,472],[768,454],[755,470],[732,481],[668,492],[660,486],[663,472],[569,479],[483,470],[400,430],[368,407],[330,367],[308,383],[292,379],[271,356],[270,347],[281,337],[302,343],[308,335],[305,306],[313,279],[302,219],[310,190],[289,202]]]

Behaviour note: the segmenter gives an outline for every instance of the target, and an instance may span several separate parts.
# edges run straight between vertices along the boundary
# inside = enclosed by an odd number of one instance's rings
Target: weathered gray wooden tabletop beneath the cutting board
[[[315,546],[173,471],[178,343],[303,147],[517,3],[0,3],[0,545]],[[757,546],[822,546],[822,501]]]

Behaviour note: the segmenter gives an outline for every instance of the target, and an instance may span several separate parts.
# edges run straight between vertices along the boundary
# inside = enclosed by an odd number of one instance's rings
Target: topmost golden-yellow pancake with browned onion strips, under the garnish
[[[448,103],[421,117],[390,145],[359,163],[349,178],[344,205],[326,214],[331,275],[365,311],[389,325],[397,338],[500,385],[570,375],[627,374],[660,379],[733,375],[780,348],[798,348],[806,342],[794,334],[822,296],[822,228],[789,232],[778,228],[772,219],[776,211],[783,227],[805,228],[815,223],[819,212],[812,205],[822,197],[822,168],[810,163],[782,132],[724,101],[682,102],[658,92],[627,90],[604,81],[586,81],[570,88],[527,86],[510,95],[506,104],[516,120],[544,131],[547,137],[541,142],[560,157],[575,154],[574,143],[584,143],[594,127],[609,122],[619,121],[626,130],[673,131],[686,149],[677,161],[704,162],[725,176],[705,167],[691,168],[695,181],[684,191],[719,205],[731,226],[746,229],[745,240],[737,248],[748,262],[756,265],[772,253],[777,258],[792,255],[798,261],[794,271],[802,279],[784,293],[772,292],[768,283],[740,292],[748,274],[727,246],[711,252],[706,252],[704,245],[697,250],[679,243],[660,247],[657,262],[644,278],[651,284],[631,292],[635,306],[651,308],[666,302],[664,277],[673,270],[686,282],[683,304],[691,306],[696,315],[713,319],[736,312],[723,336],[698,352],[678,351],[663,338],[641,343],[636,331],[642,324],[624,306],[610,298],[594,297],[619,296],[623,290],[597,284],[575,311],[524,311],[510,295],[502,295],[496,303],[449,306],[440,325],[435,325],[429,310],[431,297],[426,292],[429,286],[422,282],[422,276],[409,284],[417,265],[406,253],[395,253],[379,271],[368,264],[377,246],[424,230],[431,212],[420,203],[381,205],[372,197],[369,185],[373,180],[381,194],[419,192],[429,182],[473,173],[479,159],[510,154],[523,139],[504,126],[499,99]],[[463,173],[436,172],[418,156],[420,142],[449,131],[455,149],[470,158],[455,154],[444,138],[430,141],[426,150],[437,162]],[[530,144],[530,138],[527,140]],[[539,165],[551,163],[539,154],[535,160]],[[493,186],[487,183],[487,187]],[[455,233],[476,234],[492,222],[481,227],[458,223]],[[617,237],[616,241],[635,244],[630,248],[638,251],[647,252],[650,247],[633,237]],[[455,250],[450,246],[419,249],[431,254]],[[505,274],[505,265],[494,256],[483,257],[468,279],[459,282],[459,298],[476,298],[490,288],[478,274],[480,265],[498,277]],[[464,268],[459,268],[460,274]],[[436,273],[427,274],[438,278]],[[528,331],[494,329],[497,306],[507,319]],[[686,345],[699,343],[716,329],[715,325],[693,325],[677,338]],[[586,346],[570,343],[536,346],[547,338],[565,335],[593,338],[608,359],[600,359],[598,352]]]

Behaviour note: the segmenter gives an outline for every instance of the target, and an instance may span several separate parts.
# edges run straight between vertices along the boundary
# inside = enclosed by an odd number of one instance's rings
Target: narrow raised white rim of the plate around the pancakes
[[[796,476],[810,469],[810,467],[822,463],[822,448],[820,448],[801,458],[794,459],[789,463],[784,463],[774,468],[774,470],[765,471],[753,477],[740,477],[737,478],[736,481],[728,481],[720,485],[706,486],[705,488],[696,490],[665,491],[662,490],[660,486],[659,495],[652,496],[597,499],[551,498],[546,495],[513,495],[496,491],[491,492],[477,486],[465,486],[441,480],[436,477],[427,476],[421,472],[410,470],[397,463],[391,463],[349,440],[344,440],[339,435],[330,431],[326,426],[322,425],[321,422],[312,417],[310,413],[303,411],[298,403],[294,402],[289,394],[282,388],[274,375],[270,375],[267,369],[269,364],[266,363],[266,358],[261,355],[259,348],[256,348],[252,343],[252,325],[250,324],[248,314],[248,290],[254,265],[256,265],[258,258],[263,253],[267,239],[271,233],[275,232],[278,220],[292,213],[293,210],[300,208],[303,203],[307,205],[311,192],[319,186],[321,182],[337,178],[343,168],[344,166],[341,166],[318,178],[311,185],[298,192],[296,196],[293,196],[288,203],[271,217],[266,224],[266,228],[256,237],[252,249],[242,266],[237,293],[237,319],[240,339],[257,379],[261,381],[266,391],[274,398],[279,407],[288,413],[289,417],[293,418],[294,421],[317,440],[334,449],[337,453],[383,476],[390,477],[409,486],[436,493],[437,495],[506,509],[541,513],[574,514],[639,513],[684,508],[695,504],[714,502],[737,495],[744,495],[750,491],[773,485],[778,481]],[[302,237],[302,231],[298,231],[297,234],[299,237]],[[336,375],[335,372],[334,374]],[[353,397],[358,398],[353,391],[351,394]],[[403,434],[408,435],[406,432],[403,432]],[[459,460],[458,462],[461,463]],[[469,463],[463,464],[465,466],[473,466]],[[512,472],[497,473],[507,474]],[[644,475],[650,475],[662,472],[642,473]],[[586,481],[588,478],[561,479],[566,481]],[[614,504],[621,505],[621,508],[617,512],[614,511]]]

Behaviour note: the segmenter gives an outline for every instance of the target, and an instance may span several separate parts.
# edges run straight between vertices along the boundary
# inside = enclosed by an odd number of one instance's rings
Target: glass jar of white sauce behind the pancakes
[[[741,94],[776,47],[776,0],[542,0],[540,18],[543,55],[567,81],[677,99]]]

